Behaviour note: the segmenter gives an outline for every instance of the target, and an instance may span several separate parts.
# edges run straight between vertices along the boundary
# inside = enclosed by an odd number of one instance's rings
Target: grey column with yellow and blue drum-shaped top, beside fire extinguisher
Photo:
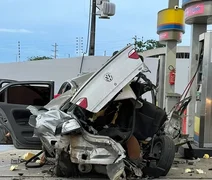
[[[169,0],[169,7],[158,12],[157,20],[159,42],[166,45],[164,86],[159,87],[159,91],[164,91],[163,108],[166,108],[166,112],[179,100],[175,84],[169,83],[169,74],[170,69],[176,69],[176,46],[184,32],[184,10],[179,8],[179,0]]]

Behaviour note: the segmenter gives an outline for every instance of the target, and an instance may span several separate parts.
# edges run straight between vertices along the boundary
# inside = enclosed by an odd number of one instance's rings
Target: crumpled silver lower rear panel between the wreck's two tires
[[[107,136],[93,135],[83,130],[71,136],[71,160],[80,164],[113,164],[126,157],[123,147]],[[86,158],[83,158],[86,157]]]

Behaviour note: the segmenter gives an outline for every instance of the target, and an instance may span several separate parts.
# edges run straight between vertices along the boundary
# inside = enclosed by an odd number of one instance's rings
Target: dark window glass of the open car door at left
[[[14,85],[7,89],[7,103],[44,106],[50,100],[48,85]]]

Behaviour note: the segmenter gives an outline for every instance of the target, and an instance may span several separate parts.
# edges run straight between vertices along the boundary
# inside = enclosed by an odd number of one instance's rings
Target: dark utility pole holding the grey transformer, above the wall
[[[94,56],[95,54],[95,36],[96,36],[96,0],[93,0],[92,14],[91,14],[89,56]]]

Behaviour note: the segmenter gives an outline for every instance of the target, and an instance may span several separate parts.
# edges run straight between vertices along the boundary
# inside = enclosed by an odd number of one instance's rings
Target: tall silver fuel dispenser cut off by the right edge
[[[212,32],[199,36],[194,142],[212,151]]]

